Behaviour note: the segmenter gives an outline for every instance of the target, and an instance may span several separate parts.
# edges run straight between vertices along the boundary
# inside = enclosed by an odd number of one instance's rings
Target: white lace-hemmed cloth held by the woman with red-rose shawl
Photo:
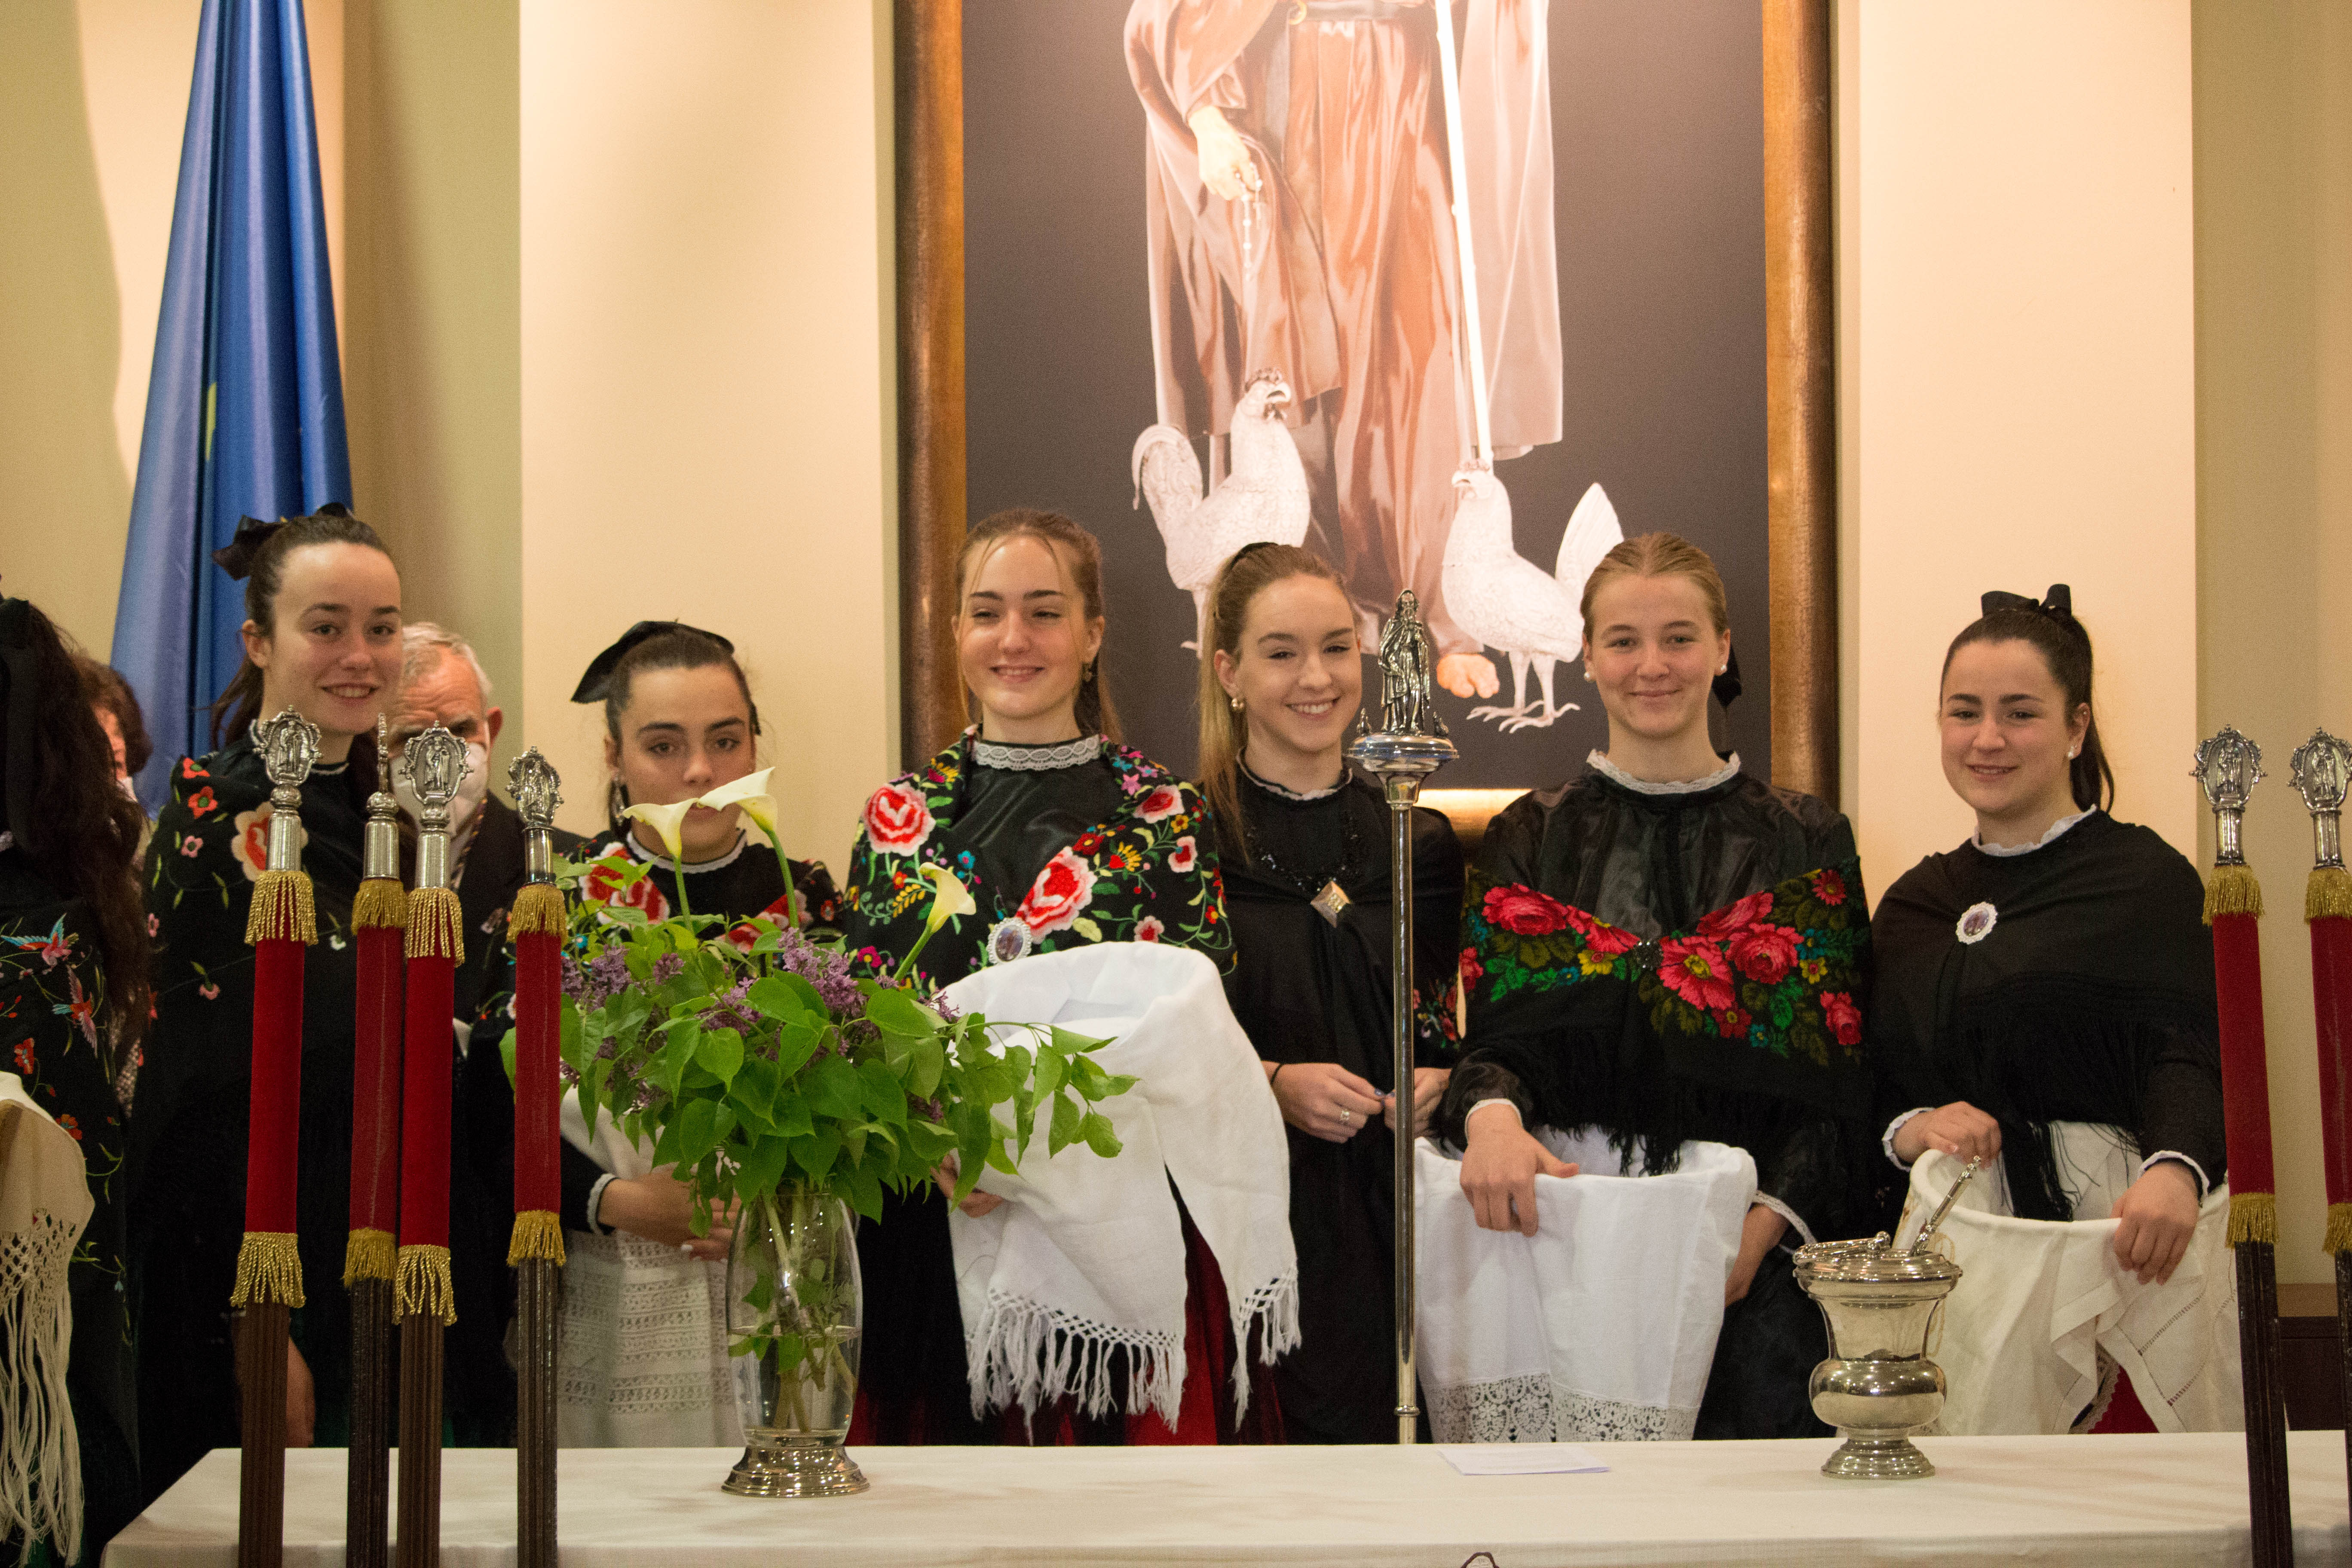
[[[1421,1394],[1439,1443],[1686,1439],[1757,1190],[1745,1150],[1686,1143],[1668,1175],[1609,1175],[1599,1133],[1538,1131],[1536,1234],[1479,1229],[1461,1161],[1414,1166]]]

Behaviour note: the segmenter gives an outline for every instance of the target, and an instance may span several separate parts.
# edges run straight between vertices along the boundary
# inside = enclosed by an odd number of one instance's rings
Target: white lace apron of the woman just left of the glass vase
[[[562,1100],[564,1143],[621,1178],[652,1171],[597,1112]],[[727,1356],[727,1265],[626,1232],[564,1232],[555,1331],[555,1441],[564,1448],[734,1448],[743,1443]]]

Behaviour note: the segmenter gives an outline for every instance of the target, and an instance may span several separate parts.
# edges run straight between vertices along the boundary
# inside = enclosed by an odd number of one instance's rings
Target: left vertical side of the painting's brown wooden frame
[[[964,726],[964,5],[898,0],[898,762]]]

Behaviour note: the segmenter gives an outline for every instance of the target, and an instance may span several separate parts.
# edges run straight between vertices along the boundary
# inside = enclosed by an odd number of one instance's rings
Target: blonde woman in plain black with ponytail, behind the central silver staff
[[[1298,1349],[1275,1368],[1291,1443],[1397,1436],[1392,1307],[1390,820],[1350,773],[1364,698],[1338,574],[1291,545],[1249,545],[1209,590],[1200,788],[1232,912],[1225,997],[1289,1124]],[[1428,1126],[1454,1051],[1463,853],[1444,813],[1414,813],[1414,1105]]]

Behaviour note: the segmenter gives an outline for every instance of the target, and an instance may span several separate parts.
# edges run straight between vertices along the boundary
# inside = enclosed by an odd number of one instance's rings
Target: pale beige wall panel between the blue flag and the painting
[[[889,5],[524,0],[522,689],[569,705],[637,618],[731,637],[786,846],[847,865],[891,769]]]

